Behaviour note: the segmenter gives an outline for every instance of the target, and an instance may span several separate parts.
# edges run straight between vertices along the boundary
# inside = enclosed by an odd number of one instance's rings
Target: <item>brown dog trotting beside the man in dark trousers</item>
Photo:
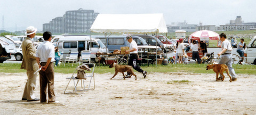
[[[114,75],[112,78],[110,78],[110,79],[113,79],[113,78],[117,75],[118,72],[123,73],[123,76],[124,76],[124,72],[127,71],[127,73],[130,73],[131,76],[132,76],[132,75],[135,76],[135,80],[137,80],[137,76],[134,74],[134,72],[133,72],[133,70],[132,70],[132,66],[130,66],[130,65],[118,65],[117,63],[111,63],[111,64],[109,65],[109,68],[113,68],[113,67],[115,67],[116,73],[115,73],[115,75]],[[124,79],[125,79],[125,76],[124,76]]]

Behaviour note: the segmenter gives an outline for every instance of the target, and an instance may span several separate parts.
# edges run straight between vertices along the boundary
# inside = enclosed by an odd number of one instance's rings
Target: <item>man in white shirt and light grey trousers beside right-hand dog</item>
[[[233,50],[230,42],[227,40],[227,36],[224,33],[220,34],[220,40],[222,42],[221,48],[222,50],[218,53],[221,55],[221,59],[219,64],[226,64],[228,66],[229,73],[232,77],[232,81],[237,80],[235,70],[232,68],[232,55],[231,51]],[[219,79],[222,79],[220,75]]]

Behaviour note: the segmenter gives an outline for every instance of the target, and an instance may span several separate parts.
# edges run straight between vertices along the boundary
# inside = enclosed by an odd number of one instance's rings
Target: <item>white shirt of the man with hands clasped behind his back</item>
[[[38,46],[36,57],[39,57],[41,62],[47,62],[48,58],[52,57],[51,62],[53,62],[55,57],[54,45],[49,41],[44,41]]]

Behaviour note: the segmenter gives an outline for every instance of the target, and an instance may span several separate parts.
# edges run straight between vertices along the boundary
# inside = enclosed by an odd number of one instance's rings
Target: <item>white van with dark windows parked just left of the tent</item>
[[[78,56],[80,56],[81,51],[90,50],[92,62],[95,62],[95,54],[98,51],[108,52],[108,49],[100,39],[90,38],[90,36],[63,36],[58,39],[56,46],[59,48],[59,51],[63,51],[63,57],[66,57],[71,51],[78,51]]]

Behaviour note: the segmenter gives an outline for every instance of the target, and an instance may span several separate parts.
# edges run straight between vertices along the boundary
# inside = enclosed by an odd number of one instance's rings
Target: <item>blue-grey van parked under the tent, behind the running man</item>
[[[107,42],[105,36],[93,36],[99,38],[109,50],[109,53],[113,53],[114,50],[121,50],[121,47],[130,46],[130,43],[126,40],[126,36],[108,36]],[[146,41],[139,37],[139,36],[132,36],[133,40],[137,43],[138,46],[140,45],[148,45]]]

